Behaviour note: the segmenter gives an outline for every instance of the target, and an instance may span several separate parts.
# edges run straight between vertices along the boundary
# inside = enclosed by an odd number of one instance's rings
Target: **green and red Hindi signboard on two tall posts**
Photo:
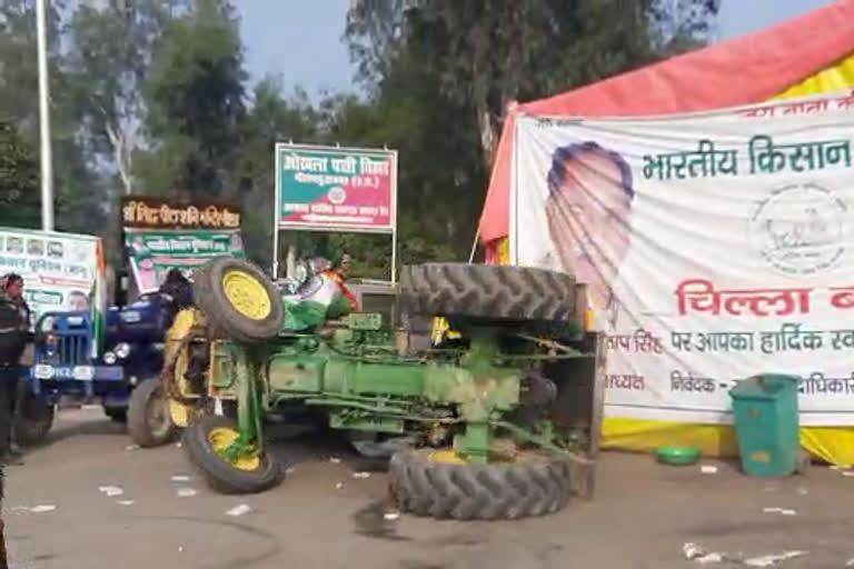
[[[391,282],[397,278],[397,151],[276,144],[272,273],[278,277],[279,231],[345,231],[391,236]]]

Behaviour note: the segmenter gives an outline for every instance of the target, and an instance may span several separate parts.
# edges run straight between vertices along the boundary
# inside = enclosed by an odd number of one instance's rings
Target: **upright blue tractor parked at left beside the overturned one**
[[[176,313],[167,292],[90,312],[48,312],[34,326],[33,362],[22,382],[16,437],[34,445],[49,432],[57,405],[99,402],[131,438],[153,447],[177,435],[161,397],[163,337]],[[103,341],[99,341],[99,327]],[[99,347],[101,345],[101,347]]]

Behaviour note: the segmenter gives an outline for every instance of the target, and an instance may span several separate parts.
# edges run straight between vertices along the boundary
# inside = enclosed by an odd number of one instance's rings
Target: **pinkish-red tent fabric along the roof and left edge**
[[[512,104],[502,130],[480,241],[507,236],[514,113],[632,117],[719,109],[767,100],[854,52],[854,0],[716,43],[575,91]]]

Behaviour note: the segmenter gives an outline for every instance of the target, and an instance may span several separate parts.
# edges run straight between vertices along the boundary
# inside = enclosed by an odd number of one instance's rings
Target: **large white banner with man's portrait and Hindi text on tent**
[[[608,336],[606,415],[731,422],[793,373],[854,425],[854,94],[622,120],[519,117],[510,256],[574,272]]]

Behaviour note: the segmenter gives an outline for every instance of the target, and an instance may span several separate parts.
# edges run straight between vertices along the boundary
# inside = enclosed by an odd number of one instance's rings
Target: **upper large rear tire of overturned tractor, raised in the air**
[[[404,267],[400,298],[413,313],[512,321],[575,319],[575,279],[532,269],[466,263]]]

